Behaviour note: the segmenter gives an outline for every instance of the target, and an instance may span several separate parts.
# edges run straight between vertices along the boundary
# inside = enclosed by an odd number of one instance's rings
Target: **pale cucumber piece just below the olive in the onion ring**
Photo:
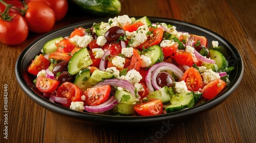
[[[170,95],[167,86],[164,86],[163,88],[154,91],[152,94],[148,94],[146,97],[148,99],[160,99],[162,100],[163,104],[170,101]]]

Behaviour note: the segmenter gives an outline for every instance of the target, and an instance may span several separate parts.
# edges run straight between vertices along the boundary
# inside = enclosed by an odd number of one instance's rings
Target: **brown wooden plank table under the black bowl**
[[[42,34],[30,33],[16,46],[0,43],[1,96],[8,85],[8,139],[1,117],[0,142],[255,142],[256,95],[256,2],[243,1],[151,1],[121,0],[120,15],[155,16],[184,20],[214,31],[230,41],[243,57],[244,77],[231,96],[217,108],[175,124],[166,132],[161,126],[116,128],[83,124],[53,114],[30,100],[15,79],[15,62],[25,47]],[[53,30],[94,19],[74,14],[56,22]]]

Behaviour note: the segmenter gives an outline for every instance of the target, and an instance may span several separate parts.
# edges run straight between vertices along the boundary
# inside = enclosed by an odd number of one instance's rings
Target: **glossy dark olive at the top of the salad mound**
[[[125,32],[122,28],[120,27],[111,27],[109,30],[105,32],[104,37],[108,42],[114,42],[119,39],[120,36],[124,36]]]

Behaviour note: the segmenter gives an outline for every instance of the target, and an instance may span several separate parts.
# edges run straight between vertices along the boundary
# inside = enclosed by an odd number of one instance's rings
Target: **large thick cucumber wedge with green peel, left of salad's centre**
[[[77,51],[69,61],[68,71],[70,75],[75,75],[79,73],[80,70],[88,67],[93,63],[89,52],[86,47]]]

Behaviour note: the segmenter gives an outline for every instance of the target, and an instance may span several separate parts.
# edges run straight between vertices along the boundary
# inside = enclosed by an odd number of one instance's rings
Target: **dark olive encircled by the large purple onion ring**
[[[174,86],[173,77],[166,71],[161,71],[157,75],[157,85],[160,87],[164,87],[164,86],[173,87]]]

